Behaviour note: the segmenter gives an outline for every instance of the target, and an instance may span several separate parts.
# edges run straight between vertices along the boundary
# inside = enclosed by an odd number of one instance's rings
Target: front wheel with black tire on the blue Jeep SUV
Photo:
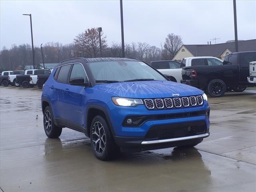
[[[114,157],[116,144],[102,116],[95,116],[90,127],[90,141],[94,155],[99,160],[109,160]]]

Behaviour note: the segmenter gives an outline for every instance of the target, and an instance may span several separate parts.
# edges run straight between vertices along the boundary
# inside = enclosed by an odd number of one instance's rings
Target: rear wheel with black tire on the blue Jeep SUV
[[[58,138],[62,132],[62,128],[53,122],[53,114],[50,106],[44,109],[44,132],[48,138]]]

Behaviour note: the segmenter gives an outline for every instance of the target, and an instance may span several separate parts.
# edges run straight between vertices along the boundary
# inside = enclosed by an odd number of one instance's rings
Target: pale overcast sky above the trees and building
[[[237,0],[238,39],[256,38],[256,1]],[[232,0],[174,1],[123,0],[124,41],[147,42],[160,47],[168,33],[184,44],[217,43],[234,39]],[[34,45],[73,42],[87,28],[102,27],[108,44],[121,42],[119,0],[0,1],[0,48],[31,44],[32,14]]]

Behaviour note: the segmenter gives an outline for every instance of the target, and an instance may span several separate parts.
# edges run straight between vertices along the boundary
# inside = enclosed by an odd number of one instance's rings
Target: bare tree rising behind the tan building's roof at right
[[[165,38],[164,48],[162,49],[162,58],[172,59],[182,46],[182,38],[179,35],[168,34]]]

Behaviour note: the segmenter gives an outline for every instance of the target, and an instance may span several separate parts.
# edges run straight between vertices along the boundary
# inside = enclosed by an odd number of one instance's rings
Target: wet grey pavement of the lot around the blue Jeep
[[[102,162],[84,134],[46,137],[38,88],[0,88],[1,192],[256,191],[256,89],[209,98],[210,137],[192,149]]]

